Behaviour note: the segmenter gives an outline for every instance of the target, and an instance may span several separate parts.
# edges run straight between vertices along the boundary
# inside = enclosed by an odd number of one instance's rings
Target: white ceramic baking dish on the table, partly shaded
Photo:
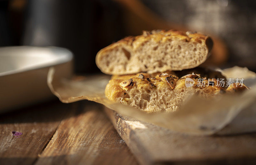
[[[53,97],[47,73],[54,66],[58,77],[73,73],[73,54],[58,47],[0,48],[0,112],[42,102]]]

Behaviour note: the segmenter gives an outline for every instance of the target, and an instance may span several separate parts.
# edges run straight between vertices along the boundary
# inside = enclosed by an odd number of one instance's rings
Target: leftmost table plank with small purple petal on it
[[[0,116],[0,164],[33,164],[71,105],[54,101]],[[21,137],[12,136],[19,131]]]

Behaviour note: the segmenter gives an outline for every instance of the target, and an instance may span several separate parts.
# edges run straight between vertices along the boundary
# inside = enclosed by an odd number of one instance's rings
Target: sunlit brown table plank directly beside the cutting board
[[[77,102],[46,146],[40,164],[137,164],[100,104]]]

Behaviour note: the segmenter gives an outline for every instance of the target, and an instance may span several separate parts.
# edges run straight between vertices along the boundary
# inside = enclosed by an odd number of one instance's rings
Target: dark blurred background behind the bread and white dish
[[[58,46],[75,55],[76,73],[99,72],[97,52],[142,30],[212,36],[207,66],[256,71],[254,0],[1,0],[0,46]]]

